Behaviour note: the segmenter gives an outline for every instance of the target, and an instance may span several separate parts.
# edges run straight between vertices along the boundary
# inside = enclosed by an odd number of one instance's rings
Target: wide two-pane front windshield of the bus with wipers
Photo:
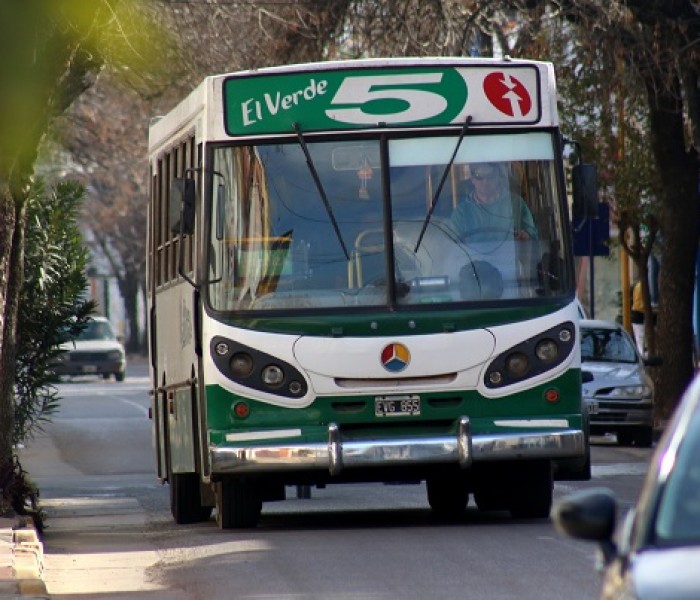
[[[550,133],[285,140],[217,146],[213,159],[215,310],[512,302],[570,291]]]

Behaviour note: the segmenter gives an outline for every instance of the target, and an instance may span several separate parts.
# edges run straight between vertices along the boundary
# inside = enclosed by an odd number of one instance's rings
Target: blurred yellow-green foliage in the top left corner
[[[51,120],[103,66],[130,85],[165,70],[155,11],[146,0],[0,2],[0,178],[31,172]]]

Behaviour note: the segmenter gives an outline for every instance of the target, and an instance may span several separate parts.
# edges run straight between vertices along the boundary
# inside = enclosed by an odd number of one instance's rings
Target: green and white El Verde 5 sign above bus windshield
[[[231,76],[223,82],[230,136],[386,126],[532,125],[541,119],[533,66],[338,69]]]

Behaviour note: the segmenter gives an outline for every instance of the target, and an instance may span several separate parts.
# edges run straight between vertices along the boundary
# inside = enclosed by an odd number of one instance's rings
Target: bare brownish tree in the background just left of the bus
[[[82,223],[90,231],[93,252],[106,260],[119,286],[129,352],[145,348],[139,300],[145,298],[149,121],[204,76],[240,68],[237,46],[251,37],[244,34],[247,18],[239,7],[166,0],[152,10],[180,42],[168,47],[163,59],[177,65],[167,85],[164,80],[124,85],[118,73],[105,69],[59,120],[61,145],[70,156],[65,168],[89,190]]]

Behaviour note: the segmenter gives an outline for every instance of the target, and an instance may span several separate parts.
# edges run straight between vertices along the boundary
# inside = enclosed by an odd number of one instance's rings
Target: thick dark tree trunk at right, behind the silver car
[[[686,151],[678,80],[647,80],[652,147],[663,196],[657,343],[663,365],[654,373],[656,416],[667,419],[693,377],[693,293],[698,251],[698,160]]]

